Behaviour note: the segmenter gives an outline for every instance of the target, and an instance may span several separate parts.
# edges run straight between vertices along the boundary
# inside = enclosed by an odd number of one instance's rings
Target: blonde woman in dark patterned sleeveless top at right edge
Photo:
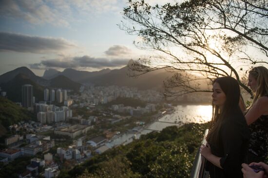
[[[263,66],[252,68],[248,86],[254,93],[245,115],[251,131],[247,160],[250,163],[268,158],[268,69]]]

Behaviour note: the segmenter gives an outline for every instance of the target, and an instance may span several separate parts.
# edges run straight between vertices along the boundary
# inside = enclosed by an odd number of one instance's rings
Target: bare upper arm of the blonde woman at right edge
[[[261,115],[268,115],[268,97],[260,97],[245,115],[247,124],[255,122]]]

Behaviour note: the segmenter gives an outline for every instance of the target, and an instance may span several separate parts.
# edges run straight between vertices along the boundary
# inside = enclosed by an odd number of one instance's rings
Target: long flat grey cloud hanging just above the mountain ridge
[[[88,55],[82,57],[74,57],[72,59],[50,59],[42,60],[40,63],[30,64],[32,69],[49,69],[49,68],[115,68],[127,65],[129,59],[108,59],[95,58]]]

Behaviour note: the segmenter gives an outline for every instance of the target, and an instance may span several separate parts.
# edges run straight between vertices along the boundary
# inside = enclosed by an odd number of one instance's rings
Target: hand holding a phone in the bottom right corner
[[[263,163],[263,162],[259,162],[259,163],[251,162],[249,165],[250,166],[251,165],[267,166],[267,168],[268,168],[268,165]],[[242,167],[243,167],[242,172],[243,172],[244,178],[267,178],[267,175],[265,175],[264,171],[260,171],[258,173],[255,173],[253,171],[253,169],[251,167],[249,167],[249,165],[245,164],[245,163],[242,164]]]

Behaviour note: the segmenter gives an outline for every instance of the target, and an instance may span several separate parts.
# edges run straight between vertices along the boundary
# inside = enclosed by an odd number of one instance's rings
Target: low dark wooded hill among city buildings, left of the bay
[[[123,104],[124,106],[130,106],[130,107],[145,107],[146,106],[145,101],[141,101],[135,98],[124,98],[124,97],[118,97],[116,98],[116,100],[107,103],[105,106],[110,107],[112,105],[120,105],[120,104]]]

